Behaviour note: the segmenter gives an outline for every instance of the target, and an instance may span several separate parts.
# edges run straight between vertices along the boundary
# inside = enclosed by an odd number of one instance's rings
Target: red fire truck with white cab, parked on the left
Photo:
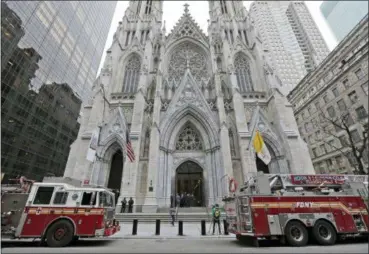
[[[79,238],[111,236],[120,230],[114,193],[66,182],[21,177],[2,185],[3,239],[40,238],[49,247],[64,247]]]

